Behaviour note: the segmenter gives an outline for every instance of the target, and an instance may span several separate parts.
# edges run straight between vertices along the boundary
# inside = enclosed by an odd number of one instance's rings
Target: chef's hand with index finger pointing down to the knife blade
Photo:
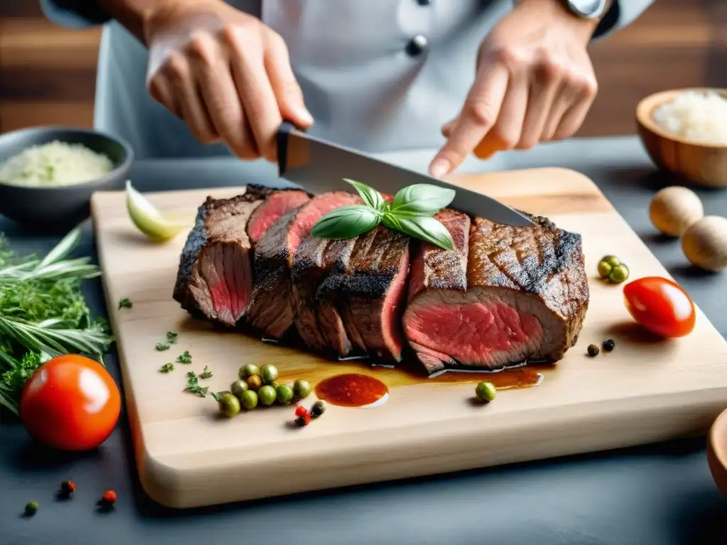
[[[586,51],[596,25],[561,0],[519,1],[482,42],[475,83],[442,129],[448,140],[431,174],[449,174],[473,150],[487,158],[574,134],[598,89]]]

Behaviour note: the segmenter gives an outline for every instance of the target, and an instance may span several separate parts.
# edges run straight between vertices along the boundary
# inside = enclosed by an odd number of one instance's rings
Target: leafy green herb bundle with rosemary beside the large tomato
[[[18,257],[0,235],[0,405],[13,413],[44,361],[77,352],[103,363],[113,342],[81,291],[83,280],[100,275],[98,267],[88,257],[69,258],[80,240],[76,229],[43,258]]]

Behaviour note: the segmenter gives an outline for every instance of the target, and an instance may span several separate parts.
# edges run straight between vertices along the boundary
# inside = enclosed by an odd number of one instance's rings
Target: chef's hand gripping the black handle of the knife
[[[148,19],[148,89],[204,143],[276,161],[285,118],[313,124],[278,33],[222,0],[162,3]]]

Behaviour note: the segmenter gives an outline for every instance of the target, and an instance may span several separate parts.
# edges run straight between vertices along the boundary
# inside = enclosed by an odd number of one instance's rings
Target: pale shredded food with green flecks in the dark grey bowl
[[[31,146],[0,166],[7,185],[49,186],[92,182],[113,170],[111,160],[82,144],[49,142]]]

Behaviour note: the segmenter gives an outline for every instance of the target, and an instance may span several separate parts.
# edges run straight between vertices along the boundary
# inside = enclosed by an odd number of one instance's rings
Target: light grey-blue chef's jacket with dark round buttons
[[[627,25],[653,0],[614,0],[595,36]],[[511,0],[232,0],[284,37],[311,134],[369,152],[435,148],[474,81],[483,38]],[[94,2],[41,0],[65,25],[106,23]],[[426,43],[425,47],[421,47]],[[204,146],[146,92],[147,52],[118,23],[103,32],[95,126],[140,157],[228,155]]]

